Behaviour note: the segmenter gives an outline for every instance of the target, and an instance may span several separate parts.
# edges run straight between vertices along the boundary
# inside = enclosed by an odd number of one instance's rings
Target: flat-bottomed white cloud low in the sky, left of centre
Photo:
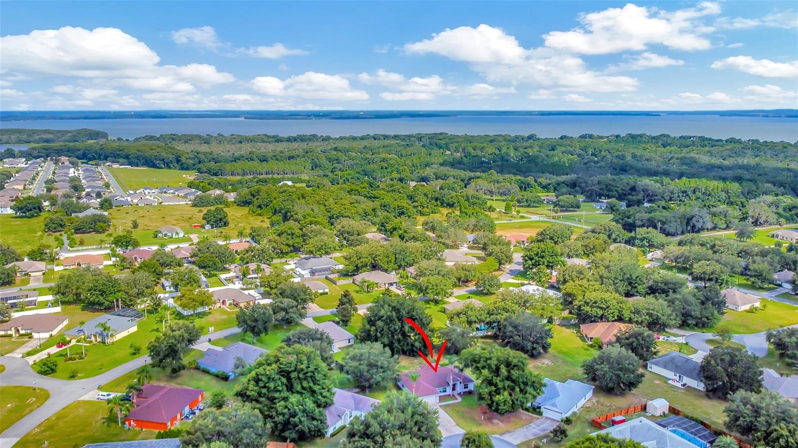
[[[256,77],[250,82],[255,92],[272,96],[299,96],[318,100],[368,100],[369,94],[353,90],[350,81],[339,75],[306,72],[285,81],[276,77]]]

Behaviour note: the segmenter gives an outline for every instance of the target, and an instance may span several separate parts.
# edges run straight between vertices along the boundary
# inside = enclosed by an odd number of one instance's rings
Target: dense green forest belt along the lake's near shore
[[[425,182],[536,205],[537,193],[615,198],[626,230],[666,234],[798,222],[798,146],[672,136],[198,136],[51,143],[5,156],[68,155],[86,161],[198,171],[196,186],[244,191],[313,175],[349,185]],[[235,179],[230,179],[230,177]],[[441,198],[436,198],[439,203]],[[249,204],[247,204],[249,205]],[[399,214],[401,215],[401,214]]]

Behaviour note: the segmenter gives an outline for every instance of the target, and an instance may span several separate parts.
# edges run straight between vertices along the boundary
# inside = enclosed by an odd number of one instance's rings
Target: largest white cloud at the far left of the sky
[[[190,92],[235,81],[213,65],[158,65],[144,42],[117,28],[35,30],[0,37],[0,65],[14,76],[91,78],[131,88]]]

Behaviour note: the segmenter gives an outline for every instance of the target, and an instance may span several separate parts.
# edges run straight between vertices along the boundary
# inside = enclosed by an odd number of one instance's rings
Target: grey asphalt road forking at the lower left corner
[[[208,333],[203,335],[196,345],[203,344],[207,342],[208,339],[215,340],[238,332],[241,332],[241,328],[232,327],[219,330],[218,332]],[[56,412],[67,407],[69,403],[73,403],[94,389],[101,389],[102,384],[108,383],[112,379],[116,379],[128,373],[128,371],[134,371],[148,361],[149,356],[141,356],[118,367],[114,367],[100,375],[87,379],[69,380],[39,375],[33,371],[28,361],[22,358],[0,356],[0,364],[6,366],[6,371],[0,373],[0,384],[3,386],[42,387],[50,393],[49,399],[47,399],[44,404],[0,434],[0,446],[3,448],[10,448],[10,446],[13,446],[23,435],[34,430],[41,422],[44,422]],[[52,445],[57,446],[57,442]]]

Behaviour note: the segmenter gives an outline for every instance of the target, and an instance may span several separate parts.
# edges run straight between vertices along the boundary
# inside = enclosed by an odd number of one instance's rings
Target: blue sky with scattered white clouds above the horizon
[[[795,2],[2,2],[2,110],[798,108]]]

